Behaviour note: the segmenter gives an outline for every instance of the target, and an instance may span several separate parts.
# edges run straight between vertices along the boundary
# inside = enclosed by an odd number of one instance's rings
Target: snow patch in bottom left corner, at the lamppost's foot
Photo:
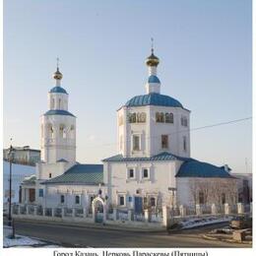
[[[43,248],[55,248],[59,247],[54,244],[49,244],[44,241],[40,241],[35,238],[31,238],[24,235],[16,234],[15,238],[10,238],[9,235],[12,234],[12,228],[10,226],[4,226],[4,248],[9,247],[43,247]]]

